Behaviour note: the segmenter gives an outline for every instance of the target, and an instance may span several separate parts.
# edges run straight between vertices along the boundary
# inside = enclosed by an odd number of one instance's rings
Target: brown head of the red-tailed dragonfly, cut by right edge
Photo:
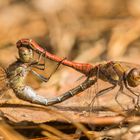
[[[140,69],[133,68],[126,74],[126,81],[129,86],[136,87],[140,85]]]

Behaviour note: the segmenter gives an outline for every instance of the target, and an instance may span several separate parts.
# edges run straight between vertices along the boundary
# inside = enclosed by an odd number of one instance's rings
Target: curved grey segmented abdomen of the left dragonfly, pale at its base
[[[29,86],[25,86],[23,90],[21,91],[15,91],[15,94],[17,95],[17,97],[19,97],[20,99],[32,102],[32,103],[36,103],[36,104],[40,104],[40,105],[53,105],[53,104],[57,104],[60,102],[63,102],[67,99],[69,99],[70,97],[75,96],[76,94],[86,90],[87,88],[91,87],[93,84],[96,83],[96,79],[94,80],[85,80],[81,85],[65,92],[64,94],[55,97],[55,98],[45,98],[43,96],[39,96],[36,94],[36,92]]]

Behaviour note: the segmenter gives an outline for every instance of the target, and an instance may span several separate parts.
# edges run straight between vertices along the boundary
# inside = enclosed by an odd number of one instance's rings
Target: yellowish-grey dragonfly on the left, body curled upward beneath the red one
[[[18,55],[19,58],[17,58],[17,60],[12,64],[10,64],[6,69],[0,67],[0,71],[1,73],[3,73],[2,75],[0,75],[0,81],[5,82],[5,85],[0,89],[1,93],[5,91],[7,88],[11,88],[19,99],[34,104],[47,106],[66,100],[69,98],[69,95],[74,96],[75,94],[78,94],[87,89],[88,87],[92,86],[95,82],[95,80],[92,79],[85,80],[79,86],[64,93],[62,96],[58,96],[55,98],[46,98],[40,96],[39,94],[36,93],[36,91],[33,88],[26,85],[25,79],[27,78],[28,73],[31,72],[42,81],[48,82],[48,80],[57,70],[61,62],[63,62],[65,59],[62,59],[62,61],[58,63],[54,72],[52,72],[52,74],[50,74],[50,76],[47,78],[32,69],[36,68],[40,70],[45,70],[46,67],[45,59],[44,63],[40,61],[42,54],[39,54],[38,59],[36,60],[36,58],[34,57],[34,51],[28,45],[24,44],[21,47],[18,47]]]

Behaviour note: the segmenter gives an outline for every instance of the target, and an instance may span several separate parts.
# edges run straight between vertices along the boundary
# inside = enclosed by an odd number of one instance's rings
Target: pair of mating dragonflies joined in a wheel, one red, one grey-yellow
[[[19,40],[17,42],[17,48],[19,52],[19,58],[6,69],[6,76],[8,79],[9,87],[13,89],[16,96],[20,99],[45,106],[53,105],[63,102],[70,97],[81,93],[82,91],[90,88],[95,83],[97,83],[98,79],[101,79],[105,82],[110,83],[112,86],[98,91],[93,98],[93,102],[97,97],[111,91],[116,86],[119,86],[120,88],[115,96],[115,100],[120,106],[121,104],[118,101],[118,96],[120,94],[125,94],[126,96],[129,96],[136,105],[139,104],[139,95],[138,93],[135,93],[131,89],[131,87],[137,87],[138,85],[140,85],[140,69],[134,67],[130,63],[109,61],[97,65],[91,65],[86,63],[72,62],[68,61],[67,59],[59,58],[56,55],[47,52],[31,39]],[[37,60],[35,60],[34,58],[34,52],[38,54]],[[44,63],[40,63],[40,60],[42,58],[44,59]],[[46,78],[32,70],[33,67],[36,69],[44,70],[46,67],[46,59],[58,62],[57,68],[60,64],[63,64],[83,73],[87,78],[80,85],[76,86],[73,89],[70,89],[69,91],[58,97],[45,98],[43,96],[40,96],[31,87],[25,85],[25,78],[28,72],[31,71],[42,81],[47,82],[52,74],[50,75],[50,77]],[[95,78],[93,79],[93,77]],[[128,95],[123,91],[124,88],[131,92],[133,96],[137,97],[136,102],[134,100],[134,97]]]

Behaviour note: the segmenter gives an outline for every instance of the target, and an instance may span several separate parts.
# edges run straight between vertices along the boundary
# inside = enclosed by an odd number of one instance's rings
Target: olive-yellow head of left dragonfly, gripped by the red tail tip
[[[33,50],[22,46],[18,48],[19,59],[24,63],[31,63],[33,61]]]

